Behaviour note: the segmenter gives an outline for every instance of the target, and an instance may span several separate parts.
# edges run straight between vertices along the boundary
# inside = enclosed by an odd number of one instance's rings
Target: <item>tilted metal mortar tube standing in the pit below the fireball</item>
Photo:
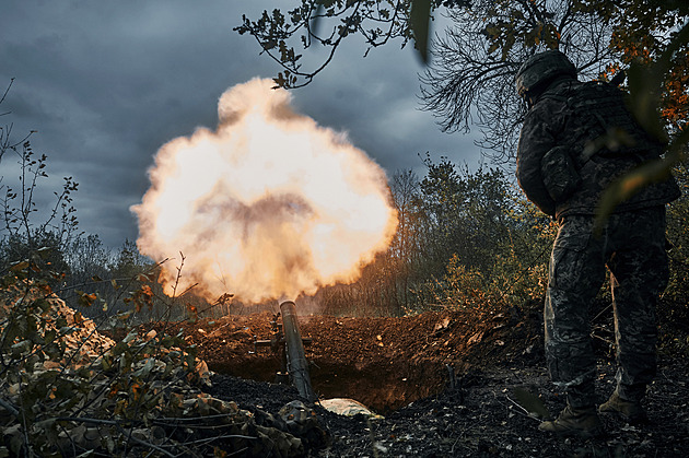
[[[304,343],[296,320],[296,307],[292,301],[285,301],[280,304],[280,312],[282,313],[282,330],[287,343],[288,373],[299,394],[313,402],[316,396],[311,387]]]

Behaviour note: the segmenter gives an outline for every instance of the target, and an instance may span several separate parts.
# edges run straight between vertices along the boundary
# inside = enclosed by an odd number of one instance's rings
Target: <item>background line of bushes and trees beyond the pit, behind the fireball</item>
[[[175,310],[168,310],[155,282],[159,265],[140,255],[133,242],[110,249],[97,235],[79,232],[71,207],[77,185],[71,178],[66,179],[61,192],[55,192],[58,203],[44,215],[46,221],[34,221],[32,196],[39,178],[47,176],[46,157],[35,158],[28,141],[15,144],[13,152],[21,156],[24,178],[20,190],[3,189],[2,271],[39,251],[40,267],[50,272],[54,290],[87,316],[127,309],[144,284],[151,301],[142,319],[185,319],[189,312],[221,316],[253,310],[230,295],[209,304],[192,292],[179,298]],[[401,316],[439,307],[493,304],[519,308],[538,302],[547,284],[556,222],[528,202],[502,168],[480,165],[471,171],[446,157],[434,162],[429,153],[423,163],[423,177],[411,169],[390,176],[399,226],[388,249],[363,269],[355,283],[322,289],[315,298],[323,310]],[[677,166],[675,175],[682,189],[689,187],[686,165]],[[687,216],[688,198],[682,196],[668,211],[673,268],[668,297],[689,297],[684,282],[689,266]]]

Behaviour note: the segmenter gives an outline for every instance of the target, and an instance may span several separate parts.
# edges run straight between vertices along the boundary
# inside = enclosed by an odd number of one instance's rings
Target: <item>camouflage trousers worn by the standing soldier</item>
[[[589,305],[610,271],[617,391],[640,400],[656,371],[655,306],[668,281],[665,208],[614,214],[599,234],[594,216],[560,221],[545,304],[545,345],[552,381],[573,407],[597,401]]]

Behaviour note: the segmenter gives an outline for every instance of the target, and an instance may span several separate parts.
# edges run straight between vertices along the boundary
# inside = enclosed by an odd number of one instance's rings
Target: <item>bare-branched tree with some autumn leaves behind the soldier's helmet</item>
[[[647,3],[657,2],[486,0],[452,10],[452,25],[437,38],[436,59],[422,78],[424,107],[444,130],[478,126],[483,133],[478,143],[494,151],[493,158],[511,160],[525,109],[513,83],[521,62],[535,51],[560,49],[584,80],[609,80],[640,54],[647,63],[668,46],[664,37],[672,37],[688,17],[677,2],[658,8]],[[646,38],[640,42],[635,35]],[[687,95],[681,85],[689,69],[686,50],[674,61],[664,92],[668,103]],[[668,105],[664,114],[676,124],[686,117],[686,107],[682,111]]]

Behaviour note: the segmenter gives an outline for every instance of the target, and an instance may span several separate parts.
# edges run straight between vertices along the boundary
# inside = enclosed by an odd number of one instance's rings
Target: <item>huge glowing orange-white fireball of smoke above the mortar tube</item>
[[[215,131],[198,128],[156,153],[131,210],[139,250],[164,262],[165,293],[194,284],[214,301],[315,294],[350,283],[389,245],[397,213],[384,171],[344,133],[295,113],[288,91],[254,79],[227,90]]]

